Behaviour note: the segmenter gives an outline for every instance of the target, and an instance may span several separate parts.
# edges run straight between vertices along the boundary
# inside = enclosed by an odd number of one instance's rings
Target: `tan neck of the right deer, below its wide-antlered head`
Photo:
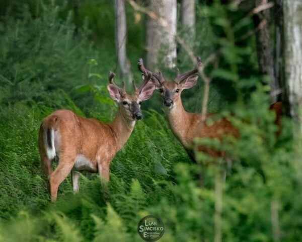
[[[166,114],[173,134],[184,147],[187,147],[189,142],[186,136],[190,124],[190,113],[184,109],[180,97],[175,100],[171,109],[166,109]]]

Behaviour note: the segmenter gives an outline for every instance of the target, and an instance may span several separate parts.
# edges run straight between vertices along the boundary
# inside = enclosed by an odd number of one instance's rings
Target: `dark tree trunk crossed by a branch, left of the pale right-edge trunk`
[[[259,6],[268,0],[257,0],[256,6]],[[275,78],[274,73],[274,64],[273,64],[273,52],[271,49],[271,40],[269,34],[269,21],[270,21],[270,13],[269,9],[259,12],[254,16],[254,25],[257,28],[260,23],[265,24],[259,31],[256,32],[256,43],[257,43],[257,55],[258,55],[258,65],[260,72],[264,75],[268,75],[270,78],[270,96],[271,103],[277,101],[277,92],[279,89],[278,80]]]

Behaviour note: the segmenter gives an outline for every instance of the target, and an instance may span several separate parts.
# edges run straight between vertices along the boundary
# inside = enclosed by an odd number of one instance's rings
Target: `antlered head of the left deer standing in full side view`
[[[115,74],[109,72],[109,83],[107,89],[109,91],[110,97],[117,101],[119,109],[122,112],[122,115],[128,120],[141,119],[142,114],[140,112],[140,104],[142,101],[147,100],[153,94],[156,86],[150,81],[152,74],[149,73],[144,77],[143,83],[137,88],[135,81],[132,81],[134,92],[133,94],[127,94],[125,91],[125,83],[123,83],[122,88],[118,87],[113,78]]]

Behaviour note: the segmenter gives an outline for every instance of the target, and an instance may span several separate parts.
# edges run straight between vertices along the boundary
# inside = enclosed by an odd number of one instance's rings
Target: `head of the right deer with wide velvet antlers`
[[[198,79],[198,68],[202,66],[200,57],[197,57],[197,67],[184,74],[180,74],[177,69],[177,77],[174,81],[166,81],[161,72],[159,74],[150,72],[143,66],[142,59],[139,59],[137,67],[142,72],[143,78],[149,74],[152,74],[152,81],[156,86],[156,89],[160,90],[164,105],[168,108],[172,108],[173,105],[180,99],[180,94],[184,89],[193,87]]]

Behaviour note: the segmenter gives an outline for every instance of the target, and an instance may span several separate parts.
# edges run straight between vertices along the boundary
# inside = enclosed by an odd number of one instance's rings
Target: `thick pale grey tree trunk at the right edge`
[[[302,1],[284,0],[284,67],[290,114],[301,122],[302,108]],[[301,126],[300,126],[301,127]],[[299,127],[299,128],[300,128]],[[297,130],[296,130],[297,131]],[[302,131],[299,129],[298,132]]]

